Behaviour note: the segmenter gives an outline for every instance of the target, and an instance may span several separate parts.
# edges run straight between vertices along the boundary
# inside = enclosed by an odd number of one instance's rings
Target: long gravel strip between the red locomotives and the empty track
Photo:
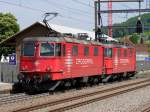
[[[143,80],[143,79],[138,79],[138,80]],[[134,82],[136,80],[128,80],[128,81],[123,81],[123,82],[116,82],[114,84],[107,84],[107,85],[102,85],[102,86],[95,86],[95,87],[91,87],[91,88],[85,88],[82,90],[72,90],[72,91],[67,91],[66,93],[58,93],[58,94],[54,94],[54,95],[49,95],[46,97],[42,97],[42,98],[37,98],[37,99],[31,99],[31,100],[27,100],[27,101],[22,101],[22,102],[16,102],[16,103],[12,103],[12,104],[7,104],[7,105],[0,105],[0,110],[2,112],[9,112],[12,110],[15,110],[16,108],[21,108],[21,107],[28,107],[29,105],[37,105],[37,104],[41,104],[41,103],[46,103],[49,101],[54,101],[54,100],[58,100],[58,99],[62,99],[68,96],[76,96],[79,94],[84,94],[87,92],[92,92],[95,90],[103,90],[103,89],[108,89],[108,88],[112,88],[112,87],[116,87],[122,84],[126,84],[127,82]]]

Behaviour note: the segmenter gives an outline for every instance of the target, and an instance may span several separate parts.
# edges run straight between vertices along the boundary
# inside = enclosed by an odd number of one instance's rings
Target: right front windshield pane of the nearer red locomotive
[[[40,56],[54,56],[54,44],[41,43]]]

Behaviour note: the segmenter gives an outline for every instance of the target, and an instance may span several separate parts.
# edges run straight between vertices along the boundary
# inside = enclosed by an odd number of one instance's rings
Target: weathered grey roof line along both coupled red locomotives
[[[103,45],[104,47],[117,47],[117,48],[133,48],[133,46],[119,44],[119,43],[100,43],[94,40],[80,40],[71,37],[28,37],[24,38],[23,41],[41,41],[41,42],[67,42],[67,43],[80,43],[80,44],[92,44],[92,45]]]

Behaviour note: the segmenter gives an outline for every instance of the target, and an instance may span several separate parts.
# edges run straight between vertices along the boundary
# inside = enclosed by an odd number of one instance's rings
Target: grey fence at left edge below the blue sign
[[[0,62],[0,82],[16,82],[18,73],[19,63],[17,63],[16,65],[9,65],[9,63]]]

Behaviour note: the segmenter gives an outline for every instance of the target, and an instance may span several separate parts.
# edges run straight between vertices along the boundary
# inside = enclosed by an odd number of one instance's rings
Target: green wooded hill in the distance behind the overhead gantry
[[[138,16],[129,18],[127,21],[122,23],[113,24],[113,37],[118,38],[135,33],[137,20]],[[150,13],[142,14],[141,20],[143,25],[145,26],[144,32],[150,31]],[[107,33],[108,28],[104,27],[103,31],[104,33]]]

